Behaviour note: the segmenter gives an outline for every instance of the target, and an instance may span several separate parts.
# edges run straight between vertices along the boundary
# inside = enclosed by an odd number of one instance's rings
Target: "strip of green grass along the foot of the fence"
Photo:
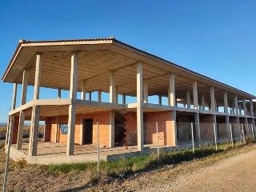
[[[234,143],[234,146],[242,146],[241,142]],[[129,174],[143,170],[151,170],[154,167],[165,165],[176,165],[180,162],[191,161],[194,158],[205,158],[211,154],[216,154],[222,151],[232,149],[230,143],[218,145],[218,150],[215,146],[204,146],[193,150],[178,150],[163,152],[159,158],[157,154],[138,156],[133,158],[121,158],[114,162],[100,162],[100,171],[102,175],[114,176],[117,174]],[[74,164],[61,164],[46,166],[46,170],[50,173],[70,173],[72,171],[90,171],[97,172],[97,162],[83,162]]]

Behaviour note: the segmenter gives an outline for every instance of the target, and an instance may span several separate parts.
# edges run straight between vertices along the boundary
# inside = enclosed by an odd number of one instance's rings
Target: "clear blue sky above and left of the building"
[[[109,38],[256,95],[256,1],[0,2],[0,74],[19,39]],[[13,85],[0,82],[0,121]],[[29,89],[33,90],[32,87]],[[50,93],[52,94],[52,93]],[[20,89],[18,90],[18,105]],[[30,96],[28,97],[30,100]]]

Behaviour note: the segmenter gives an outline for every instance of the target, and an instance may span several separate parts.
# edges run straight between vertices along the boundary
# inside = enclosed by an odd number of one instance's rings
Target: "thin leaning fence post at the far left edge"
[[[6,169],[5,175],[3,179],[2,191],[6,192],[6,182],[7,182],[7,173],[8,173],[8,166],[9,166],[9,158],[10,158],[10,145],[12,143],[13,137],[13,130],[14,130],[14,115],[10,115],[10,126],[9,126],[9,134],[8,134],[8,146],[7,146],[7,153],[6,153]]]

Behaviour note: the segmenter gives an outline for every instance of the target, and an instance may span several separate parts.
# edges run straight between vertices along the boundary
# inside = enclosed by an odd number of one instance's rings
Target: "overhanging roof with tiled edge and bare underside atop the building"
[[[136,96],[136,63],[142,62],[143,80],[148,81],[149,95],[167,96],[169,75],[174,73],[177,98],[186,98],[186,90],[192,91],[194,80],[198,82],[198,99],[204,94],[206,103],[210,102],[211,86],[214,86],[215,96],[219,100],[217,102],[222,102],[223,91],[227,91],[229,105],[234,102],[235,94],[238,95],[238,100],[256,98],[252,94],[120,42],[114,37],[54,41],[20,40],[2,75],[2,81],[22,83],[22,71],[28,70],[28,85],[33,86],[36,54],[40,52],[40,86],[69,90],[70,56],[73,51],[79,51],[78,91],[82,90],[82,80],[86,79],[86,92],[108,92],[110,70],[115,70],[118,93]]]

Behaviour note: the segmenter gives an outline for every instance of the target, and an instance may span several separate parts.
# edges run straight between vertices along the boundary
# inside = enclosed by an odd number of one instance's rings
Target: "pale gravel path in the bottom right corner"
[[[256,191],[256,150],[142,191]]]

